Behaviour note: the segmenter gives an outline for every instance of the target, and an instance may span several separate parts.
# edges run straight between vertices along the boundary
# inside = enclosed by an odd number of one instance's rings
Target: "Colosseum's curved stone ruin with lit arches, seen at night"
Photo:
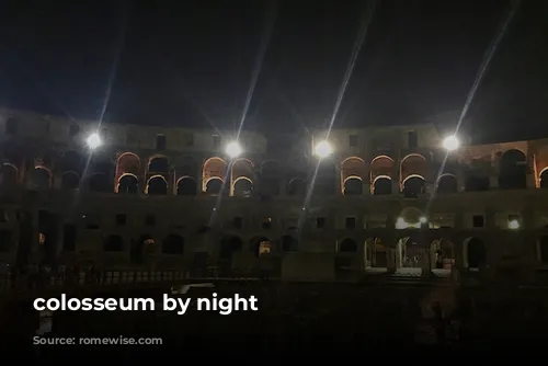
[[[435,124],[333,129],[318,157],[326,136],[1,110],[0,260],[244,272],[267,258],[326,279],[548,270],[548,139],[447,151]]]

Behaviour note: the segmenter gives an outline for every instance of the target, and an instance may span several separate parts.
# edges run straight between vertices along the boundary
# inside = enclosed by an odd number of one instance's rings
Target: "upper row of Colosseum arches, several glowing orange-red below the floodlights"
[[[294,167],[282,161],[253,161],[246,157],[227,160],[222,157],[171,159],[164,155],[142,158],[126,151],[115,159],[96,153],[91,157],[75,150],[58,159],[34,159],[28,162],[4,156],[0,165],[0,185],[25,184],[31,190],[50,187],[89,190],[117,194],[148,195],[230,195],[238,197],[305,196],[309,191],[318,195],[388,195],[401,193],[407,198],[424,195],[429,187],[436,194],[459,191],[483,191],[492,187],[492,174],[458,169],[446,164],[441,169],[420,153],[400,159],[388,155],[370,161],[351,156],[340,161],[326,159],[311,169],[312,162]],[[525,153],[511,149],[503,152],[498,163],[498,186],[518,190],[528,186],[530,174]],[[538,170],[537,170],[538,171]],[[339,176],[338,176],[339,175]],[[313,178],[313,179],[312,179]],[[548,187],[548,169],[537,173],[537,186]],[[310,183],[313,182],[313,188]],[[338,183],[339,182],[339,183]]]

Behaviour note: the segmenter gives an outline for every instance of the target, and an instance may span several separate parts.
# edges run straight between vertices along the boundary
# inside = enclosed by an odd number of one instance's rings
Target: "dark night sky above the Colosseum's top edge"
[[[331,117],[367,9],[341,0],[9,3],[0,12],[2,104],[96,118],[112,79],[106,118],[137,124],[237,124],[273,23],[244,123],[263,131]],[[502,0],[378,0],[335,127],[460,110],[510,9]],[[484,134],[548,133],[547,10],[547,1],[522,1],[506,30],[469,113]]]

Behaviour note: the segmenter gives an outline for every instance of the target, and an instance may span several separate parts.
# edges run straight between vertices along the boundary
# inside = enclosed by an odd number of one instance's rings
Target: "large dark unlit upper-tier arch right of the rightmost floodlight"
[[[499,187],[525,190],[527,187],[527,158],[520,150],[505,151],[499,161]]]

